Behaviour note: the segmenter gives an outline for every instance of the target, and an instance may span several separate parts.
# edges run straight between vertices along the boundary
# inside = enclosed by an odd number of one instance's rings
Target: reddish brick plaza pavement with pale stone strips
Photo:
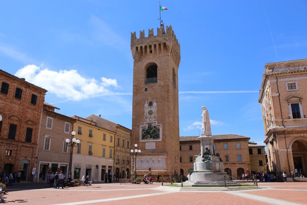
[[[173,191],[161,184],[93,184],[53,189],[43,183],[8,187],[7,204],[307,204],[307,183],[259,183],[261,190]],[[166,183],[164,183],[166,185]]]

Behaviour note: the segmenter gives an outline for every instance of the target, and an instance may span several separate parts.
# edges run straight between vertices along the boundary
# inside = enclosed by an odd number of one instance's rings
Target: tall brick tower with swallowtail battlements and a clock
[[[132,148],[137,175],[180,174],[178,67],[180,45],[172,26],[131,33],[133,56]],[[133,161],[134,165],[134,161]],[[149,168],[151,172],[149,172]],[[134,167],[132,172],[134,171]],[[133,172],[134,173],[134,172]]]

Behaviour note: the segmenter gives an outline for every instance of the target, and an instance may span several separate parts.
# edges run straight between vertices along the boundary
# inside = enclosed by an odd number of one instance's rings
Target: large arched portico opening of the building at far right
[[[292,145],[293,165],[298,171],[307,171],[307,140],[297,139]]]

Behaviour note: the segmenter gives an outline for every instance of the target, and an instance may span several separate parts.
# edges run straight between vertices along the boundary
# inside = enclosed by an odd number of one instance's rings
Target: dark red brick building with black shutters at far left
[[[0,170],[32,179],[37,138],[47,90],[0,70]]]

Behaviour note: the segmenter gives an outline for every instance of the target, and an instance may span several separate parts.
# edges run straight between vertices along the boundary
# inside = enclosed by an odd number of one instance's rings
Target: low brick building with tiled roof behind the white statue
[[[251,162],[247,136],[241,135],[213,135],[214,154],[219,155],[224,164],[224,171],[233,178],[242,179],[242,173],[251,175]],[[180,137],[180,173],[188,175],[194,170],[194,156],[200,155],[199,136]]]

